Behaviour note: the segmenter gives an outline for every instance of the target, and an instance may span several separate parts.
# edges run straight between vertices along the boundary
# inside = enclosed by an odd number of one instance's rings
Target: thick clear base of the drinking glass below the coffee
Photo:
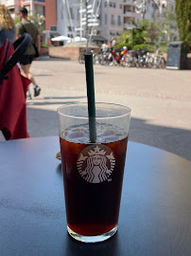
[[[113,236],[113,234],[117,231],[117,226],[115,226],[112,230],[110,230],[107,233],[101,234],[101,235],[95,235],[95,236],[86,236],[86,235],[80,235],[76,232],[74,232],[72,229],[70,229],[67,226],[68,233],[76,240],[83,242],[83,243],[98,243],[103,242]]]

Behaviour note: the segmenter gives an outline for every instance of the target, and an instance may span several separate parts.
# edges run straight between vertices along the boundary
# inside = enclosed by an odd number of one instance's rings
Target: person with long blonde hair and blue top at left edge
[[[10,16],[9,9],[5,5],[0,5],[0,46],[6,39],[14,42],[16,28]]]

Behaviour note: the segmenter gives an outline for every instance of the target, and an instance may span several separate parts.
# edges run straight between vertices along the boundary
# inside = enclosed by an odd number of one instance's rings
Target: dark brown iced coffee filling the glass
[[[63,137],[60,142],[67,225],[84,236],[107,233],[118,223],[128,137],[112,141],[114,137],[108,130],[101,140],[109,143],[78,143],[71,141],[76,141],[75,137]]]

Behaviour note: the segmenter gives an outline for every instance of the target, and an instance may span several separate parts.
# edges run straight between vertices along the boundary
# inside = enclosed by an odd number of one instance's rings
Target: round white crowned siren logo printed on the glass
[[[108,179],[114,166],[113,151],[105,145],[91,145],[78,155],[78,173],[90,183],[101,183]]]

